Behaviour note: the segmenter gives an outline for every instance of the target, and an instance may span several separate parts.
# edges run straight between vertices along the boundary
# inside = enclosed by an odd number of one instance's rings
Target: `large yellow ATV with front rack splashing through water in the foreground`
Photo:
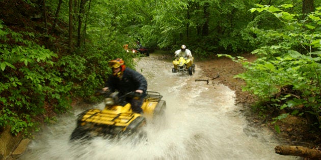
[[[79,114],[70,141],[139,132],[139,129],[146,124],[146,118],[154,119],[165,113],[166,102],[158,92],[147,91],[142,105],[144,115],[133,112],[130,103],[125,101],[127,97],[139,97],[136,92],[129,92],[120,97],[118,92],[100,91],[99,94],[105,95],[104,109],[89,109]]]

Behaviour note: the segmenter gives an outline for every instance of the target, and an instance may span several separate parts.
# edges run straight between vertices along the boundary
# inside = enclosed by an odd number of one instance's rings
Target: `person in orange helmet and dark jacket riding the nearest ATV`
[[[137,71],[126,68],[125,62],[121,58],[117,58],[108,62],[108,65],[113,70],[113,74],[109,76],[105,83],[103,91],[110,90],[119,91],[119,95],[123,95],[130,91],[135,91],[141,94],[139,98],[127,98],[131,104],[131,109],[136,113],[143,113],[142,105],[144,97],[146,97],[147,81],[145,77]]]

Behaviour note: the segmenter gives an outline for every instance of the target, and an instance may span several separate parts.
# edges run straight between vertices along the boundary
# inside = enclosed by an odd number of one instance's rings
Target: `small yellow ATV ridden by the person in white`
[[[195,64],[191,59],[185,59],[184,57],[179,57],[173,60],[174,68],[172,68],[173,73],[177,72],[188,72],[189,75],[193,75],[195,72]]]

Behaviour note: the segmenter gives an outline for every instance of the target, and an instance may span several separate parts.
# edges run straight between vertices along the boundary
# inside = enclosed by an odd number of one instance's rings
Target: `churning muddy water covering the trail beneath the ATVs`
[[[70,144],[76,115],[84,110],[78,108],[47,126],[19,159],[299,159],[276,154],[274,147],[282,143],[268,130],[247,125],[228,87],[195,82],[207,79],[197,64],[193,76],[171,73],[171,68],[165,56],[151,54],[138,61],[148,90],[160,92],[167,102],[165,119],[145,127],[147,141],[96,138]]]

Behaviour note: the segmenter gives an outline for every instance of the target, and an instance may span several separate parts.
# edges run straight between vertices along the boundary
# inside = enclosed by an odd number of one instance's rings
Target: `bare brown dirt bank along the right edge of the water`
[[[256,57],[252,54],[243,55],[248,61],[254,61]],[[233,78],[239,73],[245,72],[245,69],[239,63],[233,62],[226,57],[216,57],[215,59],[198,61],[198,66],[203,69],[204,75],[207,77],[215,77],[217,73],[220,73],[220,78],[216,79],[219,83],[228,86],[231,90],[235,91],[236,103],[244,107],[244,111],[248,111],[246,118],[250,125],[254,127],[268,127],[274,134],[282,141],[289,145],[300,145],[306,147],[319,147],[319,134],[309,131],[306,119],[303,117],[289,115],[284,120],[278,121],[281,128],[281,133],[278,134],[274,130],[274,124],[272,124],[272,117],[267,115],[266,119],[262,119],[259,115],[250,111],[251,105],[253,105],[257,99],[249,92],[243,92],[242,86],[246,83],[242,79]]]

